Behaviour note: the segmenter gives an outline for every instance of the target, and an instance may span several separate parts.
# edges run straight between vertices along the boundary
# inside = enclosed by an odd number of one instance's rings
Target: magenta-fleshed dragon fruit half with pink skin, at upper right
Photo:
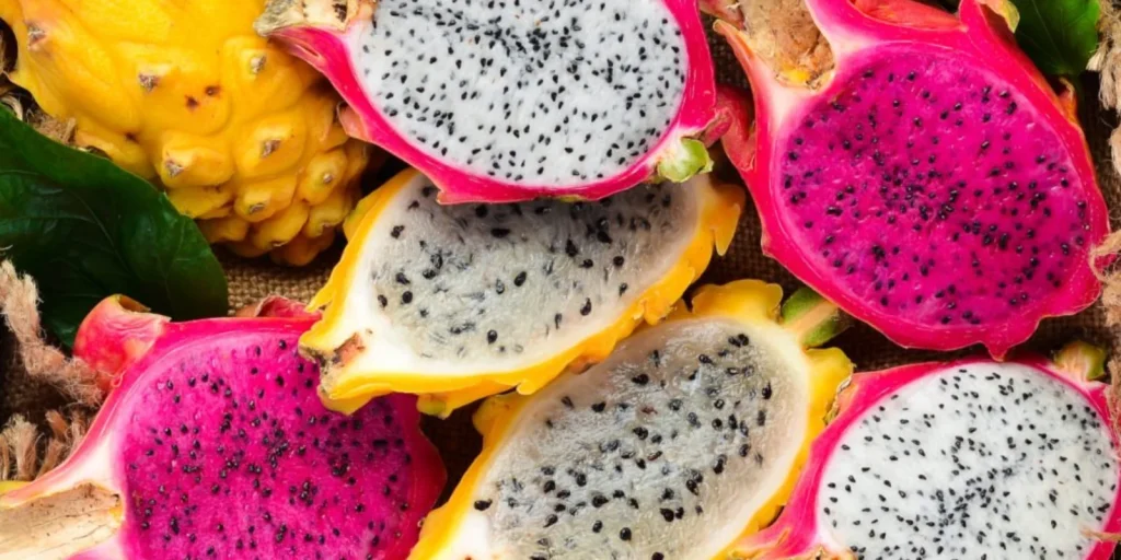
[[[1018,50],[1006,0],[806,0],[828,71],[772,64],[719,2],[758,119],[723,144],[769,255],[909,347],[999,357],[1096,299],[1109,221],[1073,95]]]

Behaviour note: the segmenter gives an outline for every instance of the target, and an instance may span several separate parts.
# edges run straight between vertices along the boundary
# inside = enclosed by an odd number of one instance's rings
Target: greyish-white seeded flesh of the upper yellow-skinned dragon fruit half
[[[700,214],[686,188],[441,205],[421,178],[367,237],[370,283],[355,305],[383,314],[423,360],[494,368],[552,356],[613,321],[679,259]]]

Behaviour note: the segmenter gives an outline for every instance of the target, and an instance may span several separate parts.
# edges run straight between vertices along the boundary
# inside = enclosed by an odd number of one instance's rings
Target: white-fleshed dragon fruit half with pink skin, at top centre
[[[602,198],[711,166],[714,72],[689,0],[274,0],[257,28],[445,203]]]

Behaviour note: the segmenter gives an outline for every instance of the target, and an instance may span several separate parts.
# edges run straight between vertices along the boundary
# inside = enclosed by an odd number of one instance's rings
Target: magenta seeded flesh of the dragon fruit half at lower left
[[[129,388],[113,451],[129,556],[363,558],[415,535],[405,524],[429,504],[410,501],[434,492],[414,491],[416,427],[397,416],[415,421],[411,400],[325,410],[296,342],[242,333],[186,345]]]

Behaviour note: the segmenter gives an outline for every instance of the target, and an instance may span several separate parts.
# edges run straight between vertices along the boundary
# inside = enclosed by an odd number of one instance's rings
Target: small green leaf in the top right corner
[[[956,9],[958,0],[938,0]],[[1077,76],[1097,49],[1099,0],[1011,0],[1020,12],[1016,40],[1050,76]]]

